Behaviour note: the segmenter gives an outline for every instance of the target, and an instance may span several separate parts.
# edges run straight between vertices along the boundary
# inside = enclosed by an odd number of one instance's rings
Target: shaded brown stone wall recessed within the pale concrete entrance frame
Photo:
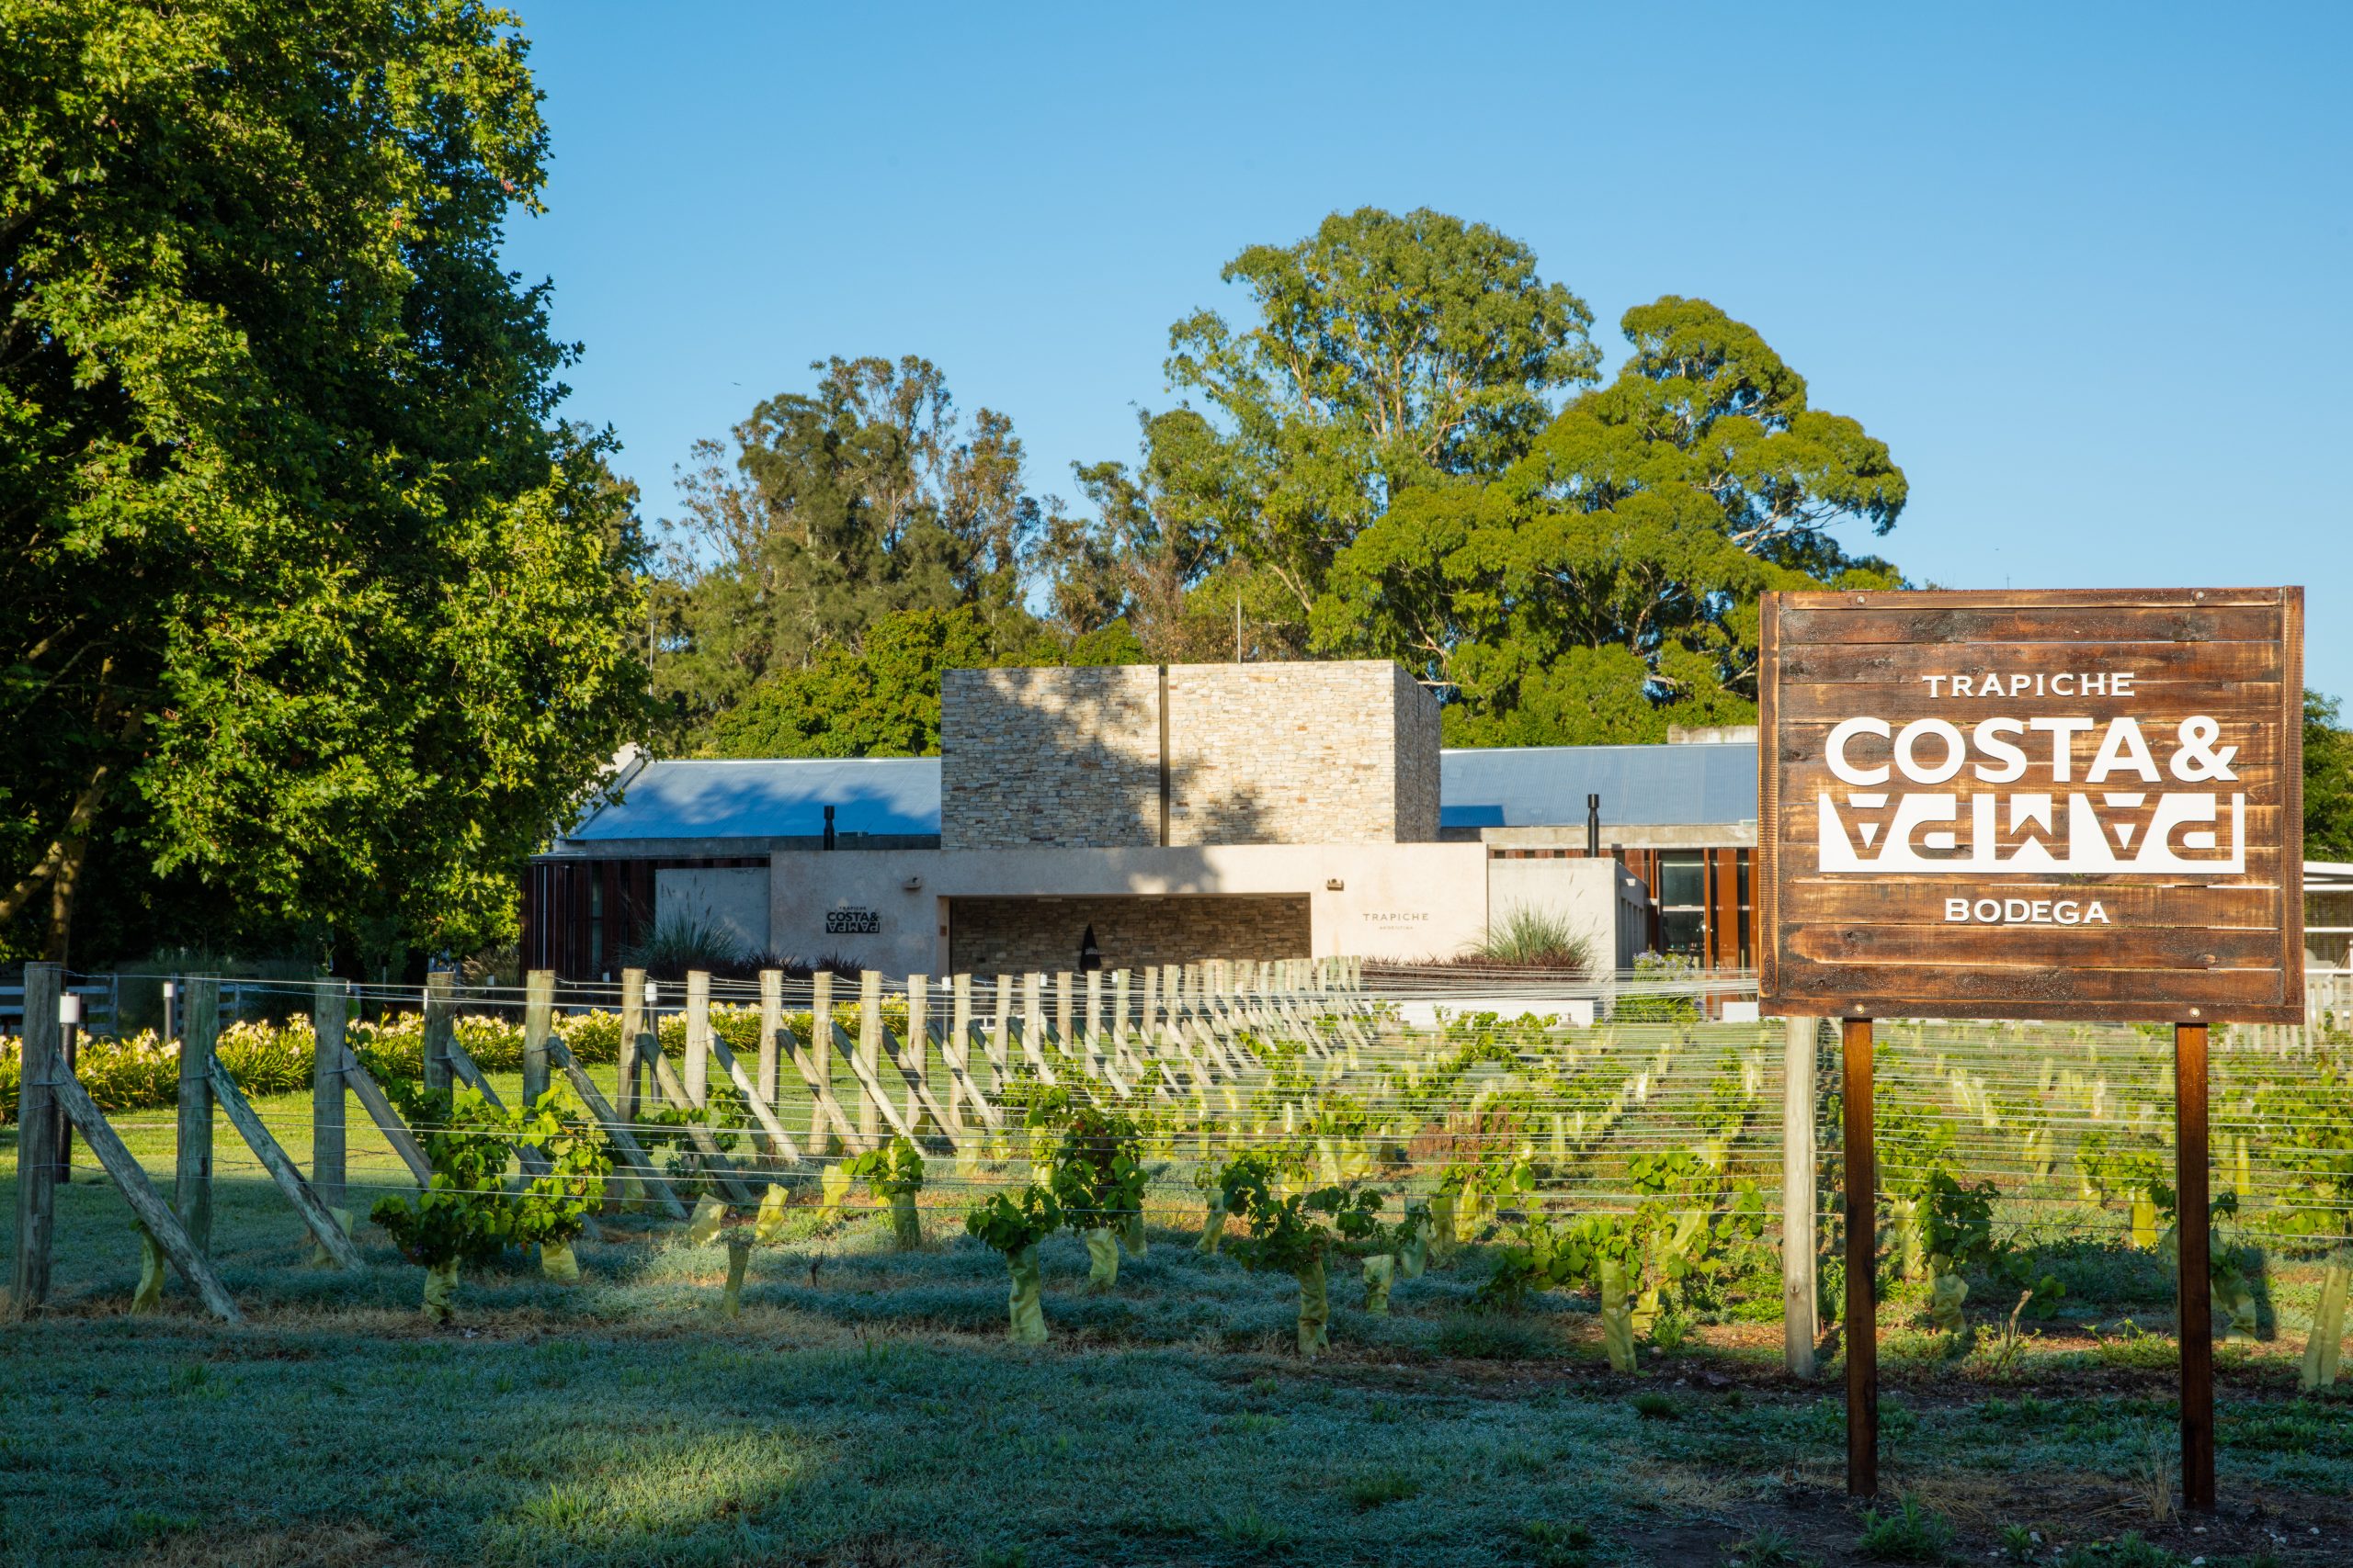
[[[1198,959],[1297,959],[1311,947],[1306,893],[1188,898],[951,898],[951,973],[1078,969],[1094,926],[1104,969]]]

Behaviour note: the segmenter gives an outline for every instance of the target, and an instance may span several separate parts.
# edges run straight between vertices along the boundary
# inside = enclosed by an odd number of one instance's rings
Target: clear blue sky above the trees
[[[2353,705],[2353,7],[880,7],[515,0],[647,515],[807,362],[920,353],[1031,487],[1134,456],[1179,315],[1360,205],[1617,317],[1753,322],[1911,475],[1918,581],[2308,588]]]

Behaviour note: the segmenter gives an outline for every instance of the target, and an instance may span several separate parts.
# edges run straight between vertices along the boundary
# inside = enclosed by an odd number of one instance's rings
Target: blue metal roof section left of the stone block
[[[569,839],[784,839],[939,832],[939,757],[647,762]]]

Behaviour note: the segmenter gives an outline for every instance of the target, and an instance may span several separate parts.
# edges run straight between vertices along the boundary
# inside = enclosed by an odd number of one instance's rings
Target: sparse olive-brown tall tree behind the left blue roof
[[[1012,421],[955,414],[929,360],[824,360],[814,395],[769,397],[734,458],[699,442],[661,595],[659,691],[689,729],[765,677],[852,654],[894,611],[974,607],[1028,635],[1021,576],[1042,508]]]

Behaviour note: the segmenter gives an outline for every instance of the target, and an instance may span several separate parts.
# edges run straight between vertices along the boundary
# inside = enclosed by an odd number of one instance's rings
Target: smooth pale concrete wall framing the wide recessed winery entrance
[[[1447,957],[1487,924],[1480,844],[786,851],[772,856],[772,867],[769,929],[779,952],[845,952],[894,976],[953,973],[958,898],[1304,896],[1311,947],[1289,957]],[[864,931],[868,924],[873,931]],[[1191,957],[1249,954],[1219,943]]]

